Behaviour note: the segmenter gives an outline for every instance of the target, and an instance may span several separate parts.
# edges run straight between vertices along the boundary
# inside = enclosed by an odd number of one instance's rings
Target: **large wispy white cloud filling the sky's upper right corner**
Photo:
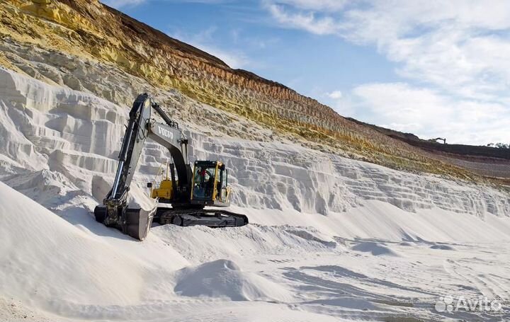
[[[509,88],[509,1],[376,1],[337,23],[346,39],[401,63],[401,76],[477,99]]]

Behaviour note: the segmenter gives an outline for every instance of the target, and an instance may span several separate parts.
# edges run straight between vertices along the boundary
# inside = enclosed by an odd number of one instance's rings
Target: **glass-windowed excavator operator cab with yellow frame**
[[[228,170],[220,161],[195,161],[191,187],[192,205],[230,205]]]

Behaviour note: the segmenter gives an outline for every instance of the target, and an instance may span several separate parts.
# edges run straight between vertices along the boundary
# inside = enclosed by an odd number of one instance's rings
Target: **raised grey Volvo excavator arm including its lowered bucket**
[[[166,124],[151,119],[155,110]],[[142,240],[147,236],[156,209],[129,209],[128,192],[135,174],[145,140],[153,139],[162,144],[174,159],[179,186],[176,191],[186,200],[189,195],[191,167],[188,164],[188,139],[179,130],[179,125],[170,120],[163,110],[154,103],[149,95],[137,97],[130,110],[130,119],[118,156],[118,168],[113,180],[113,187],[103,200],[104,207],[96,207],[96,220],[106,226],[113,226],[134,238]]]

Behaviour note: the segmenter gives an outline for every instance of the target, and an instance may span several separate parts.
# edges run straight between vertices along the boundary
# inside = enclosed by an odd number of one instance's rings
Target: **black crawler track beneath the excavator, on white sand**
[[[239,227],[248,224],[248,217],[222,209],[158,209],[154,215],[158,224],[177,226]]]

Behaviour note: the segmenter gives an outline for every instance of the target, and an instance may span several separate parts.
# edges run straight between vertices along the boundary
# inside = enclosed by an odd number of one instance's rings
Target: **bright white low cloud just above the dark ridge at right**
[[[452,143],[510,142],[510,114],[499,103],[455,100],[404,83],[365,84],[354,88],[353,96],[356,115],[376,125]]]

